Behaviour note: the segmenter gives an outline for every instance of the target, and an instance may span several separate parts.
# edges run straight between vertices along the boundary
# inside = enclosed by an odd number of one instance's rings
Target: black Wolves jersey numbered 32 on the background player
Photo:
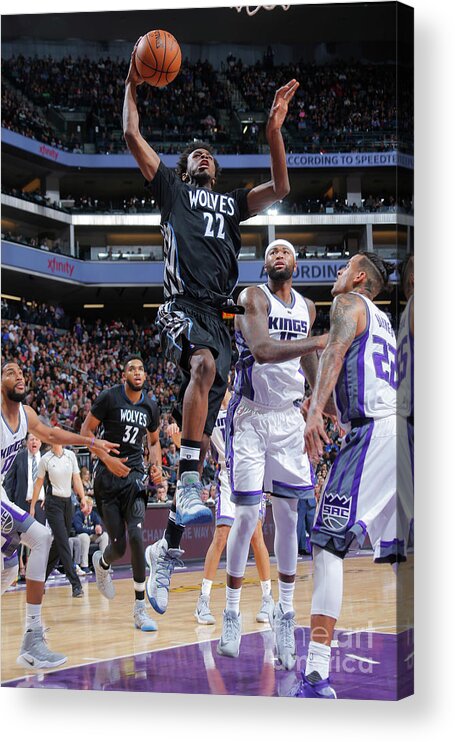
[[[133,404],[123,384],[118,384],[101,392],[90,412],[103,426],[102,437],[120,444],[119,458],[128,458],[126,466],[144,470],[144,438],[147,431],[154,433],[160,424],[156,402],[142,392],[139,402]]]

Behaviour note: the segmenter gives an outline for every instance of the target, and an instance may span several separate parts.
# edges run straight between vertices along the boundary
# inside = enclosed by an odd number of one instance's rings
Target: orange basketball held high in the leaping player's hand
[[[163,88],[180,70],[182,52],[168,31],[149,31],[136,49],[136,68],[141,77],[155,88]]]

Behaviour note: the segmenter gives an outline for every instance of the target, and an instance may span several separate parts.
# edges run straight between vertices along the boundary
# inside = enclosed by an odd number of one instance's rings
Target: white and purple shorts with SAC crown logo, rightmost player
[[[371,420],[343,439],[319,498],[311,542],[344,557],[368,533],[377,562],[406,558],[397,518],[397,420]]]

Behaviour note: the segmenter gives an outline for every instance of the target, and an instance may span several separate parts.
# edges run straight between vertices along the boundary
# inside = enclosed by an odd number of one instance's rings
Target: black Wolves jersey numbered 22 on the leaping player
[[[248,190],[196,188],[163,162],[147,188],[161,210],[165,300],[187,296],[214,307],[225,304],[238,281],[239,224],[250,216]]]

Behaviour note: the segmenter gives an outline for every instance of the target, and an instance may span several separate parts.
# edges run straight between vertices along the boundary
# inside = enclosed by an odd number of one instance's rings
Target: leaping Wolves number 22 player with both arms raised
[[[164,537],[153,545],[149,562],[156,582],[157,572],[172,567],[177,558],[184,526],[212,519],[210,508],[200,499],[200,462],[224,397],[231,362],[231,341],[221,308],[232,302],[238,279],[240,222],[289,193],[281,127],[299,83],[291,80],[275,93],[266,127],[271,180],[251,190],[216,193],[219,165],[209,145],[193,143],[174,172],[142,137],[136,89],[144,81],[135,66],[135,49],[126,78],[123,131],[161,211],[165,304],[158,311],[157,323],[162,347],[183,377],[179,406],[173,413],[182,430],[175,502]],[[167,596],[157,609],[164,613],[166,608]]]

